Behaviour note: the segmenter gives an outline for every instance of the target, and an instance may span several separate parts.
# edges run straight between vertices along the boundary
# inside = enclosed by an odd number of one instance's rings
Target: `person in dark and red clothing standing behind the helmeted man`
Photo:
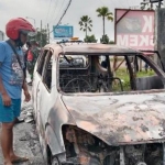
[[[38,44],[35,40],[31,40],[30,44],[31,44],[31,47],[28,51],[26,67],[28,67],[29,74],[31,75],[31,82],[29,82],[29,85],[31,86],[32,80],[33,80],[33,72],[34,72],[36,59],[40,54],[40,50],[38,50]]]

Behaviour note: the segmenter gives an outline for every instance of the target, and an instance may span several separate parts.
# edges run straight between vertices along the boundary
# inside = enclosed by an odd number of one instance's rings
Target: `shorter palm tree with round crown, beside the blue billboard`
[[[88,15],[82,15],[79,21],[80,31],[86,32],[86,37],[88,34],[88,31],[91,32],[92,28],[92,20]]]

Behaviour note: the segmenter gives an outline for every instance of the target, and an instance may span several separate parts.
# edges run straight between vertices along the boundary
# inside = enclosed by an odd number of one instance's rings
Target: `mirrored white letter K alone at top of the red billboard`
[[[144,26],[143,26],[143,30],[142,32],[145,33],[145,32],[152,32],[153,31],[153,19],[152,16],[146,16],[146,15],[143,15],[143,19],[144,19]]]

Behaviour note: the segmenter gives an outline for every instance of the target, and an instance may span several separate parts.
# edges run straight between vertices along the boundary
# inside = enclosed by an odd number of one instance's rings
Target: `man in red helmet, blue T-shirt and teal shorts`
[[[22,46],[26,43],[28,33],[34,28],[22,18],[12,19],[6,25],[8,42],[0,42],[0,122],[1,147],[4,165],[29,161],[16,156],[13,152],[13,125],[20,116],[21,92],[24,90],[25,101],[31,96],[23,76]]]

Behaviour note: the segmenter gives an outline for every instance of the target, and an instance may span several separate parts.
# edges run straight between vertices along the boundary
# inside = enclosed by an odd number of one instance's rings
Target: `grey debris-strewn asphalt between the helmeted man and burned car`
[[[22,100],[24,99],[22,95]],[[22,122],[14,125],[14,152],[19,156],[26,156],[30,158],[26,163],[16,163],[14,165],[45,165],[37,132],[35,129],[35,122],[32,117],[32,102],[25,103],[22,101],[21,117],[26,122]],[[28,122],[29,121],[29,122]],[[3,165],[3,156],[0,147],[0,165]]]

